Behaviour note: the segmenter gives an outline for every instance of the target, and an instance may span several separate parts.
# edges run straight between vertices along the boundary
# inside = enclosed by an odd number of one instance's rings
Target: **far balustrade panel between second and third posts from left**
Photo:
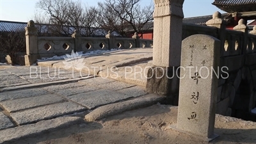
[[[95,50],[108,50],[108,38],[82,38],[82,49],[84,52]]]

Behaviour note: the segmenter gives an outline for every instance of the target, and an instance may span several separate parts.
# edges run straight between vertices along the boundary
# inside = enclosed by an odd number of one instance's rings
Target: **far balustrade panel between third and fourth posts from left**
[[[111,49],[131,49],[136,47],[134,38],[115,38],[115,47]]]

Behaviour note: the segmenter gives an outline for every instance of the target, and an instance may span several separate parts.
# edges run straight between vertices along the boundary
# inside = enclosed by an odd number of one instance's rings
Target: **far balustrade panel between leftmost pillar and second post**
[[[74,40],[69,37],[38,37],[38,54],[70,53]]]

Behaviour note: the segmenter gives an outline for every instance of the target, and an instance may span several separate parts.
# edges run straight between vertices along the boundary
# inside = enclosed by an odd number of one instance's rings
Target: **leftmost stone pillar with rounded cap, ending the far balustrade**
[[[26,55],[25,65],[29,66],[36,62],[38,58],[38,45],[37,45],[37,28],[35,22],[29,20],[26,30]]]

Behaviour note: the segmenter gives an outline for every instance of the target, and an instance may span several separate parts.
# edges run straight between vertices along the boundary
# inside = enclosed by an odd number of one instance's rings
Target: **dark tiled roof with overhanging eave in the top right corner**
[[[212,4],[229,13],[256,11],[256,0],[215,0]]]

